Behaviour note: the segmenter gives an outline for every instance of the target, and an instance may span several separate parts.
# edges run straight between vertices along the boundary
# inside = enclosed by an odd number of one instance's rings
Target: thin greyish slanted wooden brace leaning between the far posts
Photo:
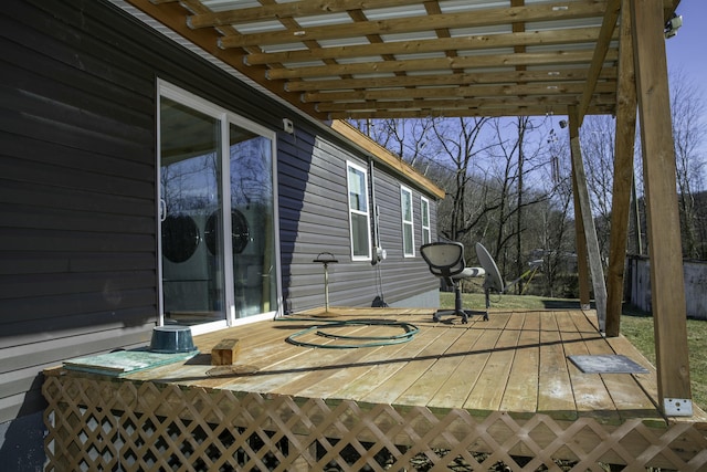
[[[587,174],[582,162],[582,148],[579,144],[579,115],[577,106],[570,106],[570,147],[572,154],[572,175],[576,180],[576,198],[579,200],[582,213],[582,224],[584,227],[584,242],[587,243],[587,254],[589,256],[589,268],[594,289],[594,304],[597,305],[597,317],[599,319],[599,331],[606,329],[606,285],[604,284],[604,270],[601,265],[601,253],[599,251],[599,240],[597,239],[597,228],[589,202],[589,190],[587,189]]]

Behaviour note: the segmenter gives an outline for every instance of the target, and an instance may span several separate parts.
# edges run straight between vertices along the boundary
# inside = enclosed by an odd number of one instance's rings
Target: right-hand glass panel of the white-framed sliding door
[[[231,244],[235,316],[277,310],[272,141],[230,125]]]

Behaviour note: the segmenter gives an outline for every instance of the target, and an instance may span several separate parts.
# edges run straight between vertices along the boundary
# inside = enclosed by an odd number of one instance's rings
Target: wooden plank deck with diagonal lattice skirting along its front
[[[331,321],[352,319],[374,322],[328,326]],[[404,324],[418,329],[409,340],[399,339],[405,334]],[[320,326],[320,333],[305,332],[313,326]],[[288,343],[295,334],[300,334],[297,342],[319,347]],[[212,366],[210,352],[224,338],[239,339],[236,361]],[[544,464],[551,469],[558,460],[576,462],[577,470],[601,470],[600,462],[630,464],[626,470],[707,468],[707,416],[696,408],[692,418],[664,418],[656,408],[655,369],[625,338],[602,337],[593,312],[492,312],[488,322],[473,317],[464,325],[458,318],[433,323],[429,310],[331,308],[328,314],[312,311],[201,335],[194,343],[202,354],[186,363],[119,379],[50,370],[45,384],[50,410],[60,415],[60,403],[66,401],[60,397],[74,388],[96,398],[117,396],[104,409],[133,410],[134,430],[149,408],[163,410],[160,418],[181,418],[180,428],[186,430],[193,428],[184,422],[189,420],[198,421],[199,430],[215,428],[223,433],[223,427],[214,424],[225,418],[239,431],[247,430],[243,434],[250,438],[241,443],[232,438],[226,441],[231,445],[221,447],[230,451],[235,443],[251,451],[234,469],[245,464],[261,470],[320,470],[335,463],[338,470],[361,465],[387,470],[380,459],[383,452],[390,463],[408,470],[414,470],[410,464],[418,455],[441,470],[454,458],[471,464],[468,470],[488,470],[499,461],[511,470]],[[361,344],[371,346],[351,347]],[[606,354],[625,355],[648,374],[583,374],[568,360],[570,355]],[[157,406],[146,408],[150,399]],[[244,407],[234,411],[230,402]],[[82,408],[86,407],[75,409]],[[92,418],[98,415],[99,408],[87,408]],[[145,411],[137,413],[140,409]],[[61,428],[55,418],[53,424],[48,422],[52,448],[71,450],[57,445],[62,430],[81,430],[75,419]],[[157,432],[161,428],[168,436],[169,427],[157,422],[150,419],[150,428]],[[254,422],[260,426],[254,428]],[[258,443],[272,442],[270,454],[276,457],[272,464],[267,453],[245,447],[254,437]],[[283,440],[288,454],[282,451]],[[167,455],[177,457],[179,463],[188,460],[179,452],[179,441],[165,441]],[[141,444],[137,439],[131,442],[134,448]],[[346,448],[355,450],[352,463],[340,458]],[[439,449],[451,453],[440,455]],[[51,455],[56,463],[66,461],[61,453]],[[514,462],[517,457],[534,459],[519,464]],[[210,470],[211,460],[220,463],[220,459],[204,460]],[[152,463],[135,461],[134,470]],[[165,465],[157,458],[154,463]]]

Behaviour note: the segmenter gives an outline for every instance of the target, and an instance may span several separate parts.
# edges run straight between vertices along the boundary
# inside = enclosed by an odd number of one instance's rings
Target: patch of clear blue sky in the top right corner
[[[667,65],[671,71],[682,70],[695,85],[707,90],[707,1],[680,0],[677,14],[683,28],[665,42]]]

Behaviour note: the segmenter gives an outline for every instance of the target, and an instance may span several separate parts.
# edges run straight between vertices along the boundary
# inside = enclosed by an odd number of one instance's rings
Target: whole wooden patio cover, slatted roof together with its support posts
[[[567,115],[581,303],[591,274],[606,336],[620,331],[639,116],[658,396],[692,415],[664,44],[679,0],[126,1],[314,119]],[[606,283],[579,143],[592,114],[616,118]]]

